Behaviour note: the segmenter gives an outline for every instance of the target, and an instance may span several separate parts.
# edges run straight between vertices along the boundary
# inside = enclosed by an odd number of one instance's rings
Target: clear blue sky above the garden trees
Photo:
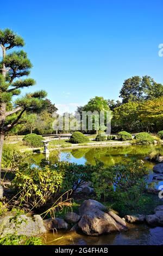
[[[0,26],[26,41],[37,82],[28,91],[45,89],[60,113],[71,112],[96,95],[117,100],[131,76],[163,84],[162,8],[162,0],[8,0]]]

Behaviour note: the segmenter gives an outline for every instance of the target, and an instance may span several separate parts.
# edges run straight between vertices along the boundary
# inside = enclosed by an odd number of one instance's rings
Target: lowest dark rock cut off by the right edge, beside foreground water
[[[154,209],[155,214],[147,215],[146,221],[153,227],[163,227],[163,205],[159,205]]]

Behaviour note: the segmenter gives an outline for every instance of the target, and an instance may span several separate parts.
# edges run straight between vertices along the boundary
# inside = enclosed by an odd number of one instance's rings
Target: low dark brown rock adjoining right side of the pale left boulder
[[[47,220],[43,220],[43,225],[47,231],[53,229],[67,229],[68,224],[61,218],[48,218]]]

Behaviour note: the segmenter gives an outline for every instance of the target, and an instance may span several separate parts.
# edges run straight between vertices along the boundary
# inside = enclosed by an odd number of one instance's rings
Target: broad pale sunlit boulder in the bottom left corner
[[[40,215],[34,218],[20,215],[15,220],[13,216],[6,216],[0,220],[1,236],[8,234],[37,236],[46,232]]]

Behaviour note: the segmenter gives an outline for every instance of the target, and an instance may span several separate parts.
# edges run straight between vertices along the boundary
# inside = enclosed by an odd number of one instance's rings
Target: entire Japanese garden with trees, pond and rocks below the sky
[[[22,36],[1,29],[0,46],[0,245],[160,245],[163,85],[126,77],[119,100],[60,114]]]

